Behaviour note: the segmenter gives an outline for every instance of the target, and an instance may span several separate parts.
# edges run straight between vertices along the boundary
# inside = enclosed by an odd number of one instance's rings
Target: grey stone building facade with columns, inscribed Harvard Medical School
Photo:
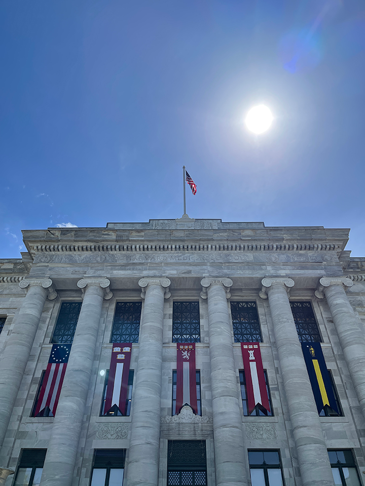
[[[248,486],[247,449],[280,450],[286,486],[333,486],[326,449],[351,449],[362,480],[365,258],[345,250],[348,232],[218,219],[23,231],[27,252],[0,260],[0,484],[22,449],[45,448],[41,486],[89,486],[94,449],[116,448],[127,450],[124,485],[165,486],[171,439],[206,441],[209,486]],[[201,417],[171,416],[174,300],[199,301]],[[316,412],[290,300],[312,304],[342,417]],[[30,417],[67,301],[83,304],[57,413]],[[131,415],[100,417],[123,301],[142,302]],[[273,417],[243,415],[230,301],[257,305]]]

